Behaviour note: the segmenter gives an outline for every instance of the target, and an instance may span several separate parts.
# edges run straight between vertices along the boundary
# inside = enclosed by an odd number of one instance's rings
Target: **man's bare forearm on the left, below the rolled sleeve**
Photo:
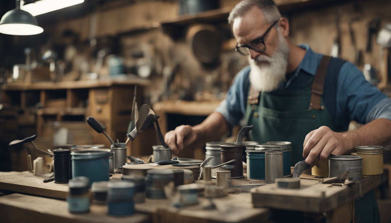
[[[213,112],[201,124],[195,125],[193,131],[197,134],[197,141],[194,147],[205,146],[206,142],[219,140],[228,134],[230,125],[225,121],[219,112]]]

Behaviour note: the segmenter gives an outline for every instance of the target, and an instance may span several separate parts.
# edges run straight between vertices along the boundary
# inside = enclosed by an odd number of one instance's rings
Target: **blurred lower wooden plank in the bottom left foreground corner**
[[[90,212],[73,214],[68,211],[68,203],[63,200],[41,198],[25,194],[0,196],[1,222],[150,222],[147,214],[135,213],[129,216],[110,216],[107,205],[90,205]]]

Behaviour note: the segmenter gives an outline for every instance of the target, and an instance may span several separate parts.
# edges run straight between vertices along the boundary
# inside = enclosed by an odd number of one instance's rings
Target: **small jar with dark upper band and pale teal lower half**
[[[68,211],[81,213],[90,211],[89,180],[87,177],[74,177],[69,180],[67,197]]]

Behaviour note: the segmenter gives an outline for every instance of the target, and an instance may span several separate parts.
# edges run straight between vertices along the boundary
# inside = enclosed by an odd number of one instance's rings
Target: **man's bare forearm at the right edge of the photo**
[[[349,152],[354,152],[356,146],[391,144],[391,120],[380,118],[361,127],[343,133],[349,143]]]

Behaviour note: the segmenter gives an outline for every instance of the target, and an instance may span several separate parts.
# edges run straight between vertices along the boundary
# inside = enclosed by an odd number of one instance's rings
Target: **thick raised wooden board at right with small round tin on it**
[[[332,186],[316,180],[300,180],[300,189],[280,189],[268,184],[250,190],[255,207],[290,211],[328,212],[380,185],[380,175],[363,178],[351,186]]]

